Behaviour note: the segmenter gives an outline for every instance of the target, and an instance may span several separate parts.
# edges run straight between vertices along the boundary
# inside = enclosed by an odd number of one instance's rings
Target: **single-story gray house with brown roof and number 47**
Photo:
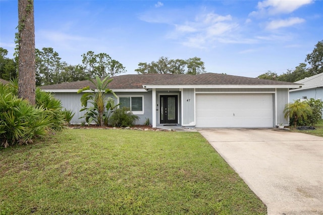
[[[289,102],[289,89],[300,84],[256,78],[205,73],[200,75],[145,74],[120,75],[109,84],[121,106],[131,108],[140,117],[138,124],[149,119],[152,127],[179,124],[183,127],[275,127],[288,125],[283,110]],[[73,110],[71,123],[79,124],[81,94],[90,81],[78,81],[40,87],[55,93],[64,107]]]

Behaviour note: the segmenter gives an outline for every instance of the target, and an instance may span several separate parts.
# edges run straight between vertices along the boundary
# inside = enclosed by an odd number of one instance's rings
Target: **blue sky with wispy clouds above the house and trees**
[[[62,61],[104,52],[135,74],[139,62],[199,57],[207,72],[257,77],[303,63],[323,39],[323,1],[34,0],[36,48]],[[18,1],[0,0],[0,46],[13,58]]]

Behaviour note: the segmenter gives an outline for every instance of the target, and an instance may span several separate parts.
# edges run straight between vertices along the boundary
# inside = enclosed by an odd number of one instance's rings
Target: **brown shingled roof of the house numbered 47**
[[[295,85],[299,84],[273,81],[257,78],[247,78],[241,76],[224,75],[217,73],[204,73],[200,75],[187,74],[144,74],[144,75],[120,75],[113,77],[113,81],[109,84],[110,89],[143,89],[143,85]],[[70,83],[61,83],[41,86],[44,90],[77,90],[83,87],[95,86],[88,80],[76,81]]]

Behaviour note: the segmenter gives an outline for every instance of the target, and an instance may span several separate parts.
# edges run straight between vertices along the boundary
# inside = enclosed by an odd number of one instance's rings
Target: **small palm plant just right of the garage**
[[[294,126],[300,121],[306,121],[307,117],[312,114],[312,109],[306,102],[296,100],[294,103],[288,103],[284,109],[284,116],[294,118]]]

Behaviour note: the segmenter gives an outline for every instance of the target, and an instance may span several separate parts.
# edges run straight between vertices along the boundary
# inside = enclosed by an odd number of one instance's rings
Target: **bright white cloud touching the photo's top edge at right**
[[[258,2],[257,11],[251,12],[250,16],[265,16],[277,14],[290,14],[295,10],[313,3],[313,0],[265,0]]]

